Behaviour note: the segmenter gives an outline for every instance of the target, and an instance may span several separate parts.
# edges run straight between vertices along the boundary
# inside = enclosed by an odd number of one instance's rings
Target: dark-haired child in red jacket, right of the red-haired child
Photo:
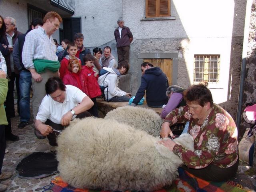
[[[89,93],[89,97],[94,102],[94,106],[88,110],[93,116],[98,117],[98,106],[96,102],[96,97],[101,95],[100,86],[96,80],[97,74],[93,70],[94,56],[87,54],[84,56],[84,64],[82,68],[82,73],[84,74],[85,84]]]

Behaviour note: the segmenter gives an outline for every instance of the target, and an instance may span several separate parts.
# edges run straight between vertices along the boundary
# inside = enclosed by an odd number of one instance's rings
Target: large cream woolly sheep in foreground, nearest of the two
[[[74,120],[57,139],[58,170],[76,188],[159,190],[172,184],[182,160],[158,140],[111,119]],[[193,148],[189,134],[176,142]]]

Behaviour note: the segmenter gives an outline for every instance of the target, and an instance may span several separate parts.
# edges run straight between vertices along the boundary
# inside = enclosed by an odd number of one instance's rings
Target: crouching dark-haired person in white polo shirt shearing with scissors
[[[56,138],[74,118],[90,116],[86,112],[94,103],[80,89],[64,85],[59,77],[49,78],[45,85],[46,96],[42,100],[35,120],[36,129],[47,136],[51,146],[57,146]]]

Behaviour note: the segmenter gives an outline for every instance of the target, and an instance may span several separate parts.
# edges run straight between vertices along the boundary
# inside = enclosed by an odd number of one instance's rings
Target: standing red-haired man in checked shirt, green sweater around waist
[[[38,113],[38,108],[42,99],[46,95],[45,84],[50,77],[58,77],[60,62],[56,55],[56,46],[52,34],[58,30],[62,18],[56,12],[48,12],[44,16],[43,26],[31,30],[27,35],[22,51],[22,61],[24,67],[32,75],[32,109],[34,120]],[[43,139],[38,130],[35,129],[38,138]]]

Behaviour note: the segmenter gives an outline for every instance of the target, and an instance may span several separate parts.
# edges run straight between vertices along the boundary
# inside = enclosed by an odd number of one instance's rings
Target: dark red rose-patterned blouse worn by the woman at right
[[[188,109],[168,114],[166,121],[180,122],[187,116]],[[176,114],[176,115],[174,115]],[[176,116],[176,117],[175,117]],[[194,151],[176,144],[174,154],[190,168],[204,168],[210,163],[219,167],[230,167],[238,159],[237,128],[232,117],[220,106],[214,104],[204,123],[190,117],[188,132],[194,138]]]

